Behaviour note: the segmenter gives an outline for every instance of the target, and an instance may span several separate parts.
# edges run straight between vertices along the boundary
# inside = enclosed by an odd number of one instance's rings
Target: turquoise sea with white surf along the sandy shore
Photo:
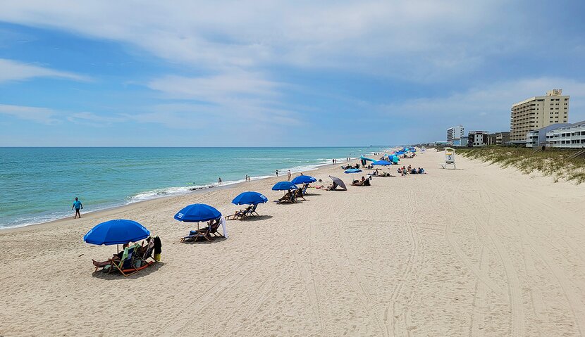
[[[309,170],[364,148],[0,148],[0,227],[190,193],[194,189]]]

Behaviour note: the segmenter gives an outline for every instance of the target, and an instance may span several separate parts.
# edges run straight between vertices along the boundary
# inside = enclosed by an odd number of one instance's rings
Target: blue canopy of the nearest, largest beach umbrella
[[[150,231],[132,220],[101,222],[83,236],[83,241],[94,245],[119,245],[146,239]]]

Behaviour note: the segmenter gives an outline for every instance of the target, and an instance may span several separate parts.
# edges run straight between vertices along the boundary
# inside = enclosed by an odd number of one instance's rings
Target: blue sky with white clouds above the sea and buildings
[[[0,146],[367,146],[585,120],[585,1],[0,4]]]

